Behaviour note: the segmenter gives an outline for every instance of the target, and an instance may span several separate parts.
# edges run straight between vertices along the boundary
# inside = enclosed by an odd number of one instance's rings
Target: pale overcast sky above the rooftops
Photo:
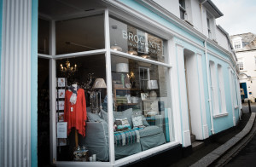
[[[212,0],[224,16],[216,24],[230,35],[253,32],[256,34],[255,0]]]

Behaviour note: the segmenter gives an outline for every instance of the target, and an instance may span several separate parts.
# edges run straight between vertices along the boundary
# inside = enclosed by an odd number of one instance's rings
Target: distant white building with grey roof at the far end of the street
[[[255,34],[251,32],[230,36],[236,50],[237,66],[240,69],[240,87],[244,91],[241,98],[248,98],[252,102],[255,102],[256,97],[256,86],[253,84],[256,78],[255,38]]]

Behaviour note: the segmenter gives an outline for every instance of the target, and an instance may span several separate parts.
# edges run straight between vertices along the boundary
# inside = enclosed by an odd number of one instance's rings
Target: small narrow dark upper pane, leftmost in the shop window
[[[49,20],[38,19],[38,54],[49,55]]]

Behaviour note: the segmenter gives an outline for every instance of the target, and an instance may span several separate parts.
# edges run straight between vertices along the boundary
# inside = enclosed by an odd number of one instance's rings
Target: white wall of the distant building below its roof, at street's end
[[[247,52],[238,52],[236,53],[238,59],[243,60],[244,70],[240,71],[241,73],[246,73],[248,76],[252,77],[251,81],[247,80],[245,75],[240,75],[240,83],[247,83],[247,95],[251,101],[254,101],[256,98],[256,64],[255,57],[256,51],[247,51]],[[249,95],[249,92],[252,92],[252,95]]]

